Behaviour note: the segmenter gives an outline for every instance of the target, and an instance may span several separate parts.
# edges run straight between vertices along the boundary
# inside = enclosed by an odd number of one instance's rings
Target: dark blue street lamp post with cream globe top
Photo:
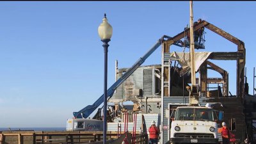
[[[98,28],[98,33],[104,47],[104,122],[103,122],[103,144],[106,144],[106,134],[107,134],[107,78],[108,78],[108,42],[113,33],[112,26],[108,23],[106,13],[102,19],[102,24]]]

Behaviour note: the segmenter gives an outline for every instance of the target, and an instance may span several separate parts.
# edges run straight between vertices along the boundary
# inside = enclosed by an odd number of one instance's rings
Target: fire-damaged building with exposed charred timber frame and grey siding
[[[231,52],[195,52],[196,59],[196,84],[200,86],[200,104],[204,106],[208,102],[221,102],[223,107],[216,106],[224,112],[224,120],[230,131],[235,135],[237,143],[245,138],[255,139],[256,122],[255,106],[245,108],[246,97],[244,93],[244,67],[246,50],[244,42],[202,20],[194,26],[194,31],[200,28],[209,29],[236,45]],[[189,52],[174,52],[171,46],[188,47],[189,29],[184,29],[173,37],[163,36],[161,65],[148,65],[139,67],[128,79],[116,89],[113,97],[108,102],[115,104],[118,109],[120,102],[131,100],[134,104],[133,113],[159,114],[158,125],[161,129],[160,143],[166,143],[170,139],[170,118],[166,118],[166,109],[177,108],[189,104],[189,92],[186,87],[191,85],[189,72]],[[204,37],[199,43],[195,43],[196,49],[204,47]],[[225,47],[223,47],[225,49]],[[228,77],[225,67],[220,67],[209,60],[236,61],[236,77]],[[178,66],[179,63],[179,66]],[[118,68],[116,65],[116,79],[122,76],[129,68]],[[220,77],[208,77],[207,70],[214,70]],[[228,91],[228,79],[236,79],[236,95]],[[209,84],[218,84],[214,90],[209,89]],[[255,97],[250,97],[255,101]],[[248,102],[248,100],[247,100]],[[221,121],[222,122],[222,121]],[[221,126],[221,122],[219,122]]]

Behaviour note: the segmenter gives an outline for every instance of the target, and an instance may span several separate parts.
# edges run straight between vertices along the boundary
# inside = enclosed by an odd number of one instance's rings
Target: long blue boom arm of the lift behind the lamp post
[[[164,37],[163,37],[164,38]],[[150,54],[152,54],[163,42],[163,38],[160,38],[157,43],[144,55],[142,56],[138,61],[136,61],[136,63],[134,63],[134,65],[132,65],[131,68],[129,68],[129,70],[127,70],[127,72],[125,72],[125,74],[120,77],[107,91],[107,99],[111,98],[113,96],[113,93],[115,92],[116,88],[118,88],[118,86],[120,86],[120,84],[122,84],[125,79],[127,79],[129,76],[131,76],[131,74],[138,68],[140,67],[140,65],[142,63],[144,63],[144,61],[148,58],[148,56],[150,56]],[[102,102],[104,101],[104,94],[101,95],[99,97],[99,99],[97,99],[92,105],[88,105],[85,108],[81,109],[78,112],[73,112],[74,117],[76,118],[88,118],[88,116],[90,116],[93,111],[95,111],[95,109],[97,109],[100,104],[102,104]]]

